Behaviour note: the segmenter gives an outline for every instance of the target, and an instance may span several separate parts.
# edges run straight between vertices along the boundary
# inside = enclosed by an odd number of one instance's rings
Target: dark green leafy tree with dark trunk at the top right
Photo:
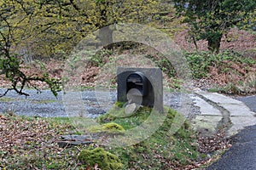
[[[256,8],[255,0],[173,0],[177,14],[190,27],[195,40],[206,39],[208,49],[219,52],[221,38],[232,26],[247,22]],[[254,13],[255,14],[255,13]]]

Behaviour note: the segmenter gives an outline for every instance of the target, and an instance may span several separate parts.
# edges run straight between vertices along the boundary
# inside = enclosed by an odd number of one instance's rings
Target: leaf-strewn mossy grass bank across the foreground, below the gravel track
[[[118,138],[125,131],[146,122],[151,109],[142,107],[130,116],[124,114],[122,104],[117,103],[107,114],[97,118],[98,127],[89,127],[89,130],[92,133],[105,131],[111,133],[111,137],[116,133],[115,138]],[[196,135],[189,122],[183,122],[176,133],[170,133],[170,127],[177,114],[179,113],[166,108],[165,120],[147,139],[137,144],[115,148],[97,143],[69,148],[58,147],[56,141],[61,134],[82,133],[73,127],[72,119],[76,119],[75,117],[48,119],[0,115],[1,128],[3,128],[1,136],[12,143],[5,144],[4,147],[1,144],[0,167],[5,169],[185,168],[202,156],[197,151]],[[10,137],[9,132],[15,133]]]

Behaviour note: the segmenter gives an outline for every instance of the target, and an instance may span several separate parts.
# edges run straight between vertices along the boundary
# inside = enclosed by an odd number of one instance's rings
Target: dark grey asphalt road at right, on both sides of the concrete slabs
[[[237,98],[256,112],[256,96]],[[207,169],[256,169],[256,125],[246,127],[232,138],[232,147]]]

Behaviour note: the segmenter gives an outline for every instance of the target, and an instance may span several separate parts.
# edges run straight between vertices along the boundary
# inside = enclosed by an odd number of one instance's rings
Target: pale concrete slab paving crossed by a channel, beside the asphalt
[[[201,109],[201,115],[195,117],[195,127],[207,129],[209,133],[224,128],[227,135],[238,133],[247,126],[256,124],[256,113],[242,101],[244,98],[233,99],[223,94],[195,91],[195,105]],[[255,98],[247,99],[250,106],[254,106]],[[253,105],[254,102],[254,105]]]

